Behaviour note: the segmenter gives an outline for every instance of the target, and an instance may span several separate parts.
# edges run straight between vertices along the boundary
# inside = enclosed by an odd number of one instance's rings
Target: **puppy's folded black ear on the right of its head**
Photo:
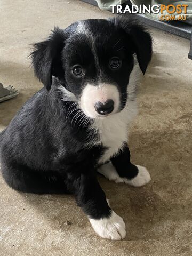
[[[145,74],[152,56],[152,38],[146,29],[137,22],[116,17],[115,26],[122,28],[132,41],[132,51],[136,53],[140,69]]]

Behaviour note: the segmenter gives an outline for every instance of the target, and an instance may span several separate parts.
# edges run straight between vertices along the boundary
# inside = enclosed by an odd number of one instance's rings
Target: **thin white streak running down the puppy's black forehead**
[[[98,60],[98,56],[97,56],[97,53],[96,53],[96,46],[95,46],[95,42],[94,42],[94,36],[91,32],[91,28],[89,27],[89,25],[87,23],[85,23],[85,21],[79,21],[76,31],[79,34],[83,34],[83,35],[86,36],[87,42],[89,43],[89,46],[90,46],[91,51],[92,51],[93,56],[94,56],[95,65],[99,68],[99,60]]]

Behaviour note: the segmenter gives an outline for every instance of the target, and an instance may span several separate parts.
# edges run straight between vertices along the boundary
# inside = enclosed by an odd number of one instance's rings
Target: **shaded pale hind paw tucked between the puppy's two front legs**
[[[123,178],[119,177],[115,167],[113,164],[111,164],[111,162],[101,165],[97,171],[104,175],[108,180],[113,180],[116,183],[124,183]]]

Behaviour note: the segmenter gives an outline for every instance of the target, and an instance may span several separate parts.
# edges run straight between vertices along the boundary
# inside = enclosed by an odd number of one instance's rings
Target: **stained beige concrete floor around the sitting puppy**
[[[73,4],[72,4],[73,3]],[[0,103],[0,130],[42,87],[29,67],[30,43],[58,25],[111,14],[80,1],[2,0],[0,82],[20,95]],[[72,196],[21,194],[0,179],[0,255],[192,255],[192,61],[189,41],[151,29],[154,57],[140,86],[130,132],[132,161],[145,165],[142,188],[100,177],[111,206],[126,223],[123,241],[98,237]]]

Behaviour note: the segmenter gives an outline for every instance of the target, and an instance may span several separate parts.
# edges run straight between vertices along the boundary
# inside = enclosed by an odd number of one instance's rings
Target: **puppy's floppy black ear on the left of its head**
[[[58,76],[62,71],[61,51],[64,44],[64,31],[59,28],[55,28],[45,41],[33,44],[30,57],[35,75],[47,90],[51,88],[52,76]]]

